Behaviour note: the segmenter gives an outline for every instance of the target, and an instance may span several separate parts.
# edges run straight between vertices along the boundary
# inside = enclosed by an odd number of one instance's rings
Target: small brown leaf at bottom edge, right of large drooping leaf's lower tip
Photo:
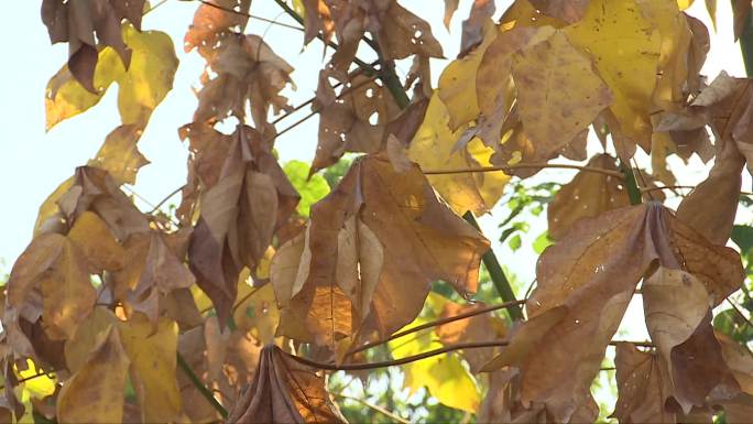
[[[620,423],[676,423],[664,407],[669,398],[669,376],[656,352],[639,350],[630,343],[616,345],[618,402],[611,416]]]

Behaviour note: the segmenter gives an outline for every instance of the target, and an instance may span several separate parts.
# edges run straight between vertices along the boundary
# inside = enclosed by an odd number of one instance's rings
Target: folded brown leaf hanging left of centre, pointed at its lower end
[[[253,129],[239,126],[217,182],[201,193],[188,246],[190,268],[221,323],[236,300],[240,271],[255,270],[274,230],[297,203],[271,146]]]

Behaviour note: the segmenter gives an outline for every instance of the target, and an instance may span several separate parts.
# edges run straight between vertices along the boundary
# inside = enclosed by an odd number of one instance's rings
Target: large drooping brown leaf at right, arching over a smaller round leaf
[[[581,219],[541,257],[538,286],[526,306],[530,319],[484,368],[517,367],[522,402],[544,402],[556,421],[569,421],[593,404],[589,388],[607,344],[655,262],[697,278],[710,305],[743,280],[733,250],[709,243],[658,204]],[[689,351],[696,348],[688,346]]]

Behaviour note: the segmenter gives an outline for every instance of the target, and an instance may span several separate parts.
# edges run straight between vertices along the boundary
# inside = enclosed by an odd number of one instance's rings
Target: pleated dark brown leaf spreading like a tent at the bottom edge
[[[228,423],[345,423],[320,371],[265,346],[253,381],[230,411]]]

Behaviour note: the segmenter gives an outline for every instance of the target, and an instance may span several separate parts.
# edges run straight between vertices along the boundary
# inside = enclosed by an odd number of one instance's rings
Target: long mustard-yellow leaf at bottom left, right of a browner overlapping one
[[[161,317],[153,330],[149,318],[133,314],[119,322],[123,347],[131,360],[131,376],[141,405],[144,423],[177,420],[181,413],[181,391],[175,378],[177,324]]]

